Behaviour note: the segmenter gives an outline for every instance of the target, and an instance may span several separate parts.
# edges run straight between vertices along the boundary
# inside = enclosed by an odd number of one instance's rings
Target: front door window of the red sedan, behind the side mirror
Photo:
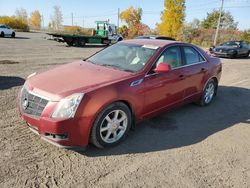
[[[178,46],[167,48],[157,60],[156,66],[159,63],[167,63],[171,68],[180,67],[182,65],[180,48]]]

